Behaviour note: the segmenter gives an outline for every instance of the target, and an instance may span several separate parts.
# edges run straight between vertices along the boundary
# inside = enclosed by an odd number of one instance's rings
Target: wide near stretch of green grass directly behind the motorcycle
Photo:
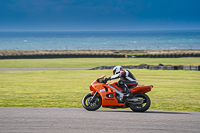
[[[131,69],[139,84],[152,84],[150,110],[200,112],[200,71]],[[1,107],[82,108],[89,85],[111,70],[0,71]]]

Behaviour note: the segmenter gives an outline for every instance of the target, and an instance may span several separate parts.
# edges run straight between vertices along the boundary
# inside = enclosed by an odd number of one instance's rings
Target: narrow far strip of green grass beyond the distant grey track
[[[112,65],[200,65],[197,58],[66,58],[66,59],[5,59],[0,68],[93,68]]]

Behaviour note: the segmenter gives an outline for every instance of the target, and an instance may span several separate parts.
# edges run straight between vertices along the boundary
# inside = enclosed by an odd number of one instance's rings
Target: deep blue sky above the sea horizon
[[[200,0],[0,0],[0,31],[199,29]]]

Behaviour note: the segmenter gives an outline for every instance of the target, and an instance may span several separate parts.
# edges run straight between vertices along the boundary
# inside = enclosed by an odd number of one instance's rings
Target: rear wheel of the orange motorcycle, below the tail
[[[135,94],[133,97],[142,98],[144,101],[143,101],[142,104],[131,103],[129,106],[130,106],[132,111],[134,111],[134,112],[145,112],[146,110],[149,109],[149,107],[151,105],[151,100],[146,94],[138,93],[138,94]]]

